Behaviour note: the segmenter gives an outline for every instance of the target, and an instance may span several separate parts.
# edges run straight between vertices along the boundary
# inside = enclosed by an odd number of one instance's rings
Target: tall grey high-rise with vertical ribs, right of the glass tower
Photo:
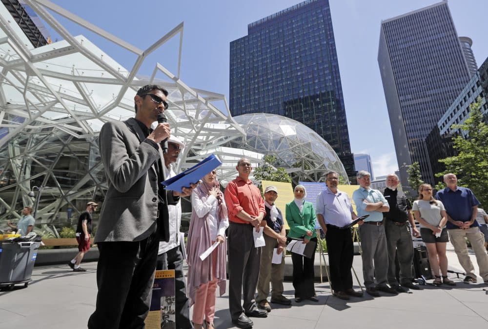
[[[415,161],[433,182],[425,139],[470,77],[447,1],[383,20],[378,64],[402,184]]]

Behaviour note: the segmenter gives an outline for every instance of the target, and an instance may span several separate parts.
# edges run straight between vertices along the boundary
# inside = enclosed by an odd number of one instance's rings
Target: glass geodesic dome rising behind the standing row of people
[[[266,113],[234,116],[246,136],[228,146],[274,155],[275,167],[283,167],[294,182],[320,181],[328,171],[336,171],[347,182],[344,166],[332,147],[312,129],[287,118]],[[347,184],[347,183],[346,183]]]

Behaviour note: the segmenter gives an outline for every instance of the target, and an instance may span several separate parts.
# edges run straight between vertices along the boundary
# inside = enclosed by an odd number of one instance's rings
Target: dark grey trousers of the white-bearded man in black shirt
[[[388,283],[398,285],[395,255],[400,265],[400,284],[412,282],[413,242],[408,224],[397,226],[385,221],[386,246],[388,249]]]

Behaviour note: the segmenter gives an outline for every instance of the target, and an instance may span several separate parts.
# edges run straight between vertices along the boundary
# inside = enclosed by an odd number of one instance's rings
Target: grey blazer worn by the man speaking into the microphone
[[[158,182],[153,164],[155,161],[161,163],[162,153],[151,144],[142,143],[144,139],[134,118],[125,122],[110,121],[102,126],[99,147],[108,190],[95,243],[140,241],[156,231],[158,188],[163,186]],[[174,200],[171,203],[175,203]],[[165,214],[160,215],[165,216],[164,224],[167,226],[167,198],[163,200],[163,207]]]

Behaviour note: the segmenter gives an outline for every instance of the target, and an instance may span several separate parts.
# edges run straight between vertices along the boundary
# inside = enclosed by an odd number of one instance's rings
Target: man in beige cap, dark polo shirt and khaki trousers
[[[283,279],[285,275],[285,257],[281,257],[280,264],[273,264],[273,253],[277,249],[279,255],[284,256],[286,231],[281,210],[274,204],[278,197],[278,189],[268,186],[264,190],[264,206],[266,207],[266,226],[264,227],[264,241],[266,245],[261,249],[261,261],[258,279],[258,297],[256,303],[261,310],[271,311],[267,301],[269,282],[271,281],[271,303],[291,305],[291,301],[283,296]]]

